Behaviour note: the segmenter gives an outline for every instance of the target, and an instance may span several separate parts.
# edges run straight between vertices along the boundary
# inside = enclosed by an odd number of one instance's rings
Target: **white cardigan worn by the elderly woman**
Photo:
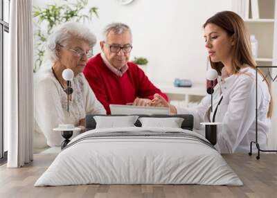
[[[53,131],[59,124],[78,126],[80,119],[85,118],[86,114],[106,114],[82,73],[73,78],[71,85],[73,93],[68,113],[66,93],[53,71],[44,69],[34,75],[35,136],[39,136],[36,132],[44,134],[49,146],[59,146],[63,140],[60,132]],[[78,133],[74,132],[73,137],[76,135]],[[43,146],[45,143],[39,145]]]

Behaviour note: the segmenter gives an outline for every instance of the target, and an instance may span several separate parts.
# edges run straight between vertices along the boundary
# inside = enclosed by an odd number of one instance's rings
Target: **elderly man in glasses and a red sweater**
[[[107,114],[110,104],[147,106],[155,93],[168,100],[136,64],[128,62],[132,51],[130,28],[109,24],[104,36],[105,41],[100,42],[102,53],[87,62],[84,76]]]

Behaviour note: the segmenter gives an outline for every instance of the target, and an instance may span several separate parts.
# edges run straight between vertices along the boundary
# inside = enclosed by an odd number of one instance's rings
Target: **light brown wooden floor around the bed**
[[[244,186],[200,185],[84,185],[33,187],[55,159],[55,154],[35,154],[30,165],[19,169],[0,167],[0,197],[277,197],[277,154],[260,160],[246,154],[224,155]]]

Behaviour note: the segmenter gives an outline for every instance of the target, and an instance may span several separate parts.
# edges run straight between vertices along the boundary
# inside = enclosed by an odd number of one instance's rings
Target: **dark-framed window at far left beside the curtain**
[[[0,163],[7,156],[7,134],[3,130],[3,69],[8,64],[10,0],[0,0]]]

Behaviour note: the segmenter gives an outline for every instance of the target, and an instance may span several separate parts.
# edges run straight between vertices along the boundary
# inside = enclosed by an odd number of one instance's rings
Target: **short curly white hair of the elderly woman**
[[[66,22],[57,26],[53,33],[48,37],[46,44],[46,53],[51,61],[57,60],[56,46],[60,44],[66,45],[69,39],[82,39],[89,43],[91,48],[96,44],[96,36],[91,33],[89,28],[77,22]]]

